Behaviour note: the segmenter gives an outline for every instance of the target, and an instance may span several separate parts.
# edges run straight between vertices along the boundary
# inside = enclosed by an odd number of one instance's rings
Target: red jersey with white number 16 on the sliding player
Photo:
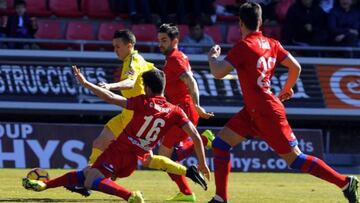
[[[133,110],[134,115],[115,144],[119,149],[135,153],[140,159],[155,147],[171,127],[181,128],[189,122],[180,107],[170,104],[161,96],[130,98],[126,108]]]

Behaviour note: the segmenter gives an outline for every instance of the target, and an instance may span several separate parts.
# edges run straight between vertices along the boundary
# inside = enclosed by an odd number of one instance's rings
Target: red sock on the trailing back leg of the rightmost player
[[[306,155],[306,161],[301,166],[301,171],[333,183],[339,188],[343,188],[348,183],[346,176],[339,174],[323,160],[311,155]]]

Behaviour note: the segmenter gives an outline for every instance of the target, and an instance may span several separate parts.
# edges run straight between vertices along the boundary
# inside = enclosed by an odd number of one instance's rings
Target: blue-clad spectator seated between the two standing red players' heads
[[[214,45],[213,38],[204,33],[204,25],[200,21],[190,21],[189,33],[185,35],[182,42],[191,45],[203,45],[203,47],[186,46],[184,48],[186,54],[203,54],[209,49],[208,46]]]

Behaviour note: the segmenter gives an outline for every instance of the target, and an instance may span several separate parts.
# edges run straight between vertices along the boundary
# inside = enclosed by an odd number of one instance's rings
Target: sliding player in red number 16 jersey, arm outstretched
[[[114,173],[117,177],[127,177],[137,167],[137,160],[142,160],[147,166],[152,159],[152,149],[164,137],[166,132],[176,125],[183,129],[193,139],[195,152],[199,160],[198,170],[206,178],[210,171],[205,163],[204,148],[199,133],[189,121],[181,108],[174,106],[163,97],[164,73],[160,70],[150,70],[143,73],[142,78],[146,95],[124,98],[109,90],[88,82],[78,68],[73,67],[79,82],[106,102],[134,111],[129,124],[122,134],[96,159],[95,163],[82,171],[72,171],[50,181],[42,182],[23,179],[26,189],[43,191],[59,186],[84,186],[86,189],[101,191],[123,198],[130,203],[143,203],[141,192],[130,192],[121,187],[109,177]],[[165,169],[164,169],[165,170]],[[186,176],[201,184],[206,190],[206,182],[191,166]],[[182,174],[185,175],[185,174]]]

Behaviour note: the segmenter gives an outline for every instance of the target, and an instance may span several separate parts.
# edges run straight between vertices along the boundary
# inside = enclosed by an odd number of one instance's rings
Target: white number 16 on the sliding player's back
[[[145,116],[145,122],[144,124],[141,126],[140,130],[138,131],[138,133],[136,134],[137,137],[142,137],[143,133],[145,132],[145,130],[148,128],[148,126],[150,125],[150,123],[153,121],[154,116]],[[148,131],[148,133],[145,136],[145,140],[147,141],[155,141],[160,133],[160,127],[164,127],[165,126],[165,120],[162,118],[157,118],[153,121],[153,125],[150,128],[150,130]]]

